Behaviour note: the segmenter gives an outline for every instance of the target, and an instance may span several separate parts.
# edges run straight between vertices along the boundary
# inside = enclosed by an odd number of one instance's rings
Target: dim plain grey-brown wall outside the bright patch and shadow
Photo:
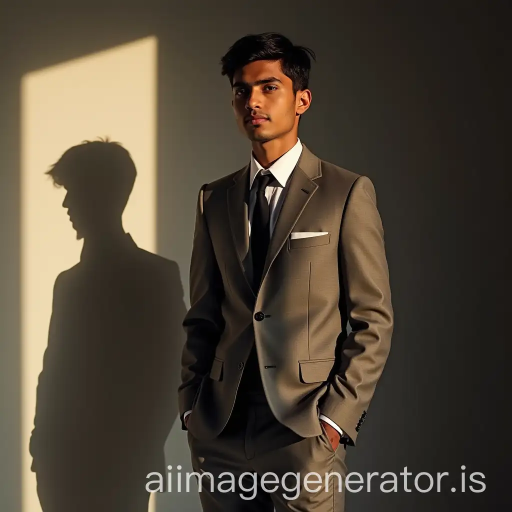
[[[188,305],[199,187],[240,168],[250,152],[218,62],[237,38],[264,31],[316,52],[300,137],[319,157],[372,179],[385,227],[396,327],[349,471],[447,471],[458,486],[465,464],[466,474],[486,476],[481,494],[383,494],[375,486],[349,495],[347,509],[509,502],[505,3],[354,4],[2,3],[0,510],[17,512],[20,502],[20,78],[157,35],[158,252],[178,262]],[[186,509],[174,499],[173,509]]]

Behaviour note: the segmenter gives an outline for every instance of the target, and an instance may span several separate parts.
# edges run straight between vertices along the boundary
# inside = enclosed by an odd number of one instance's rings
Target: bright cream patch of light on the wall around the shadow
[[[121,142],[138,173],[123,225],[139,247],[155,252],[157,39],[29,73],[22,79],[21,100],[22,511],[40,512],[28,450],[37,377],[53,283],[79,261],[82,246],[62,208],[66,191],[55,188],[45,172],[83,140],[109,136]]]

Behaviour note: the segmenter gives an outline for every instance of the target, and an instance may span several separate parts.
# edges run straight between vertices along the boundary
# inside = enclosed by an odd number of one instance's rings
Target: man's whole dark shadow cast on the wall
[[[146,511],[146,475],[165,474],[178,414],[179,268],[122,228],[136,172],[120,144],[73,146],[47,174],[84,242],[53,290],[30,440],[39,500],[45,512]]]

